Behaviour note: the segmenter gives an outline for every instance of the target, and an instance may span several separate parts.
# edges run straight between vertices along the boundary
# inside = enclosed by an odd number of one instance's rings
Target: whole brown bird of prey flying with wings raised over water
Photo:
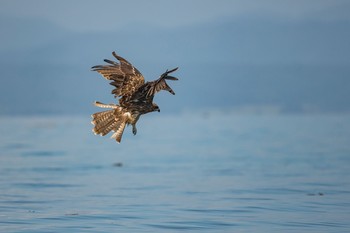
[[[95,134],[105,136],[113,131],[111,138],[120,143],[126,125],[131,124],[132,132],[136,135],[136,122],[142,114],[160,112],[158,105],[153,103],[153,97],[157,92],[165,90],[175,95],[165,80],[178,80],[169,76],[178,67],[165,71],[157,80],[145,82],[143,75],[130,62],[115,52],[112,54],[119,63],[105,59],[107,65],[93,66],[91,69],[111,81],[110,84],[115,87],[112,94],[115,98],[119,98],[119,105],[96,101],[97,107],[109,110],[92,114],[91,123],[94,125],[92,131]]]

